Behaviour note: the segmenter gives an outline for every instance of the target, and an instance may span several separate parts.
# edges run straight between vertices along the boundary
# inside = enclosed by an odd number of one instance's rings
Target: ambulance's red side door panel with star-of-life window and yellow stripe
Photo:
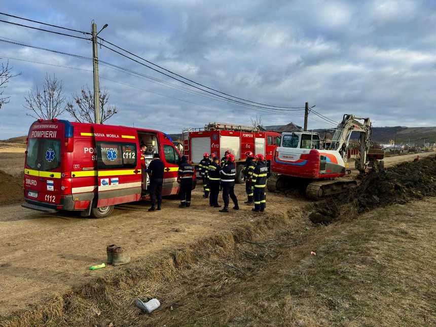
[[[97,207],[138,201],[141,161],[137,132],[129,128],[94,126],[97,152]]]

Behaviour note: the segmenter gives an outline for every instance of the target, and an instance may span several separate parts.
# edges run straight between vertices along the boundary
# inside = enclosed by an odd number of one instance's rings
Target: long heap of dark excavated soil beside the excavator
[[[393,203],[436,196],[436,157],[405,162],[381,172],[371,172],[351,193],[317,204],[312,223],[329,224],[351,204],[358,213]]]

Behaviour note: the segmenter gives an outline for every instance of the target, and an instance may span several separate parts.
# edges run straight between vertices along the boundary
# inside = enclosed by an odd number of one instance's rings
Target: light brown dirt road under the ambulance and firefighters
[[[237,185],[236,189],[243,202],[244,186]],[[189,209],[179,209],[177,200],[165,199],[162,211],[150,213],[149,203],[137,202],[117,206],[113,215],[102,220],[44,214],[20,205],[0,207],[0,315],[118,269],[88,269],[105,262],[107,244],[127,248],[132,260],[147,258],[159,250],[193,243],[257,217],[251,207],[243,204],[240,211],[224,214],[210,208],[207,201],[197,189]],[[298,210],[307,203],[304,199],[269,194],[267,210]]]

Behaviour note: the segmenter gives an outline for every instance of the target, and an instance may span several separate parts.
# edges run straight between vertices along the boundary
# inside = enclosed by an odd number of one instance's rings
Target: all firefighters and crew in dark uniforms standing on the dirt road
[[[142,149],[141,149],[142,150]],[[251,151],[245,153],[246,161],[244,167],[245,190],[247,193],[247,205],[253,205],[255,212],[263,212],[266,208],[266,184],[268,178],[268,166],[263,155],[259,154],[256,157]],[[209,157],[208,153],[203,155],[200,161],[199,172],[203,180],[203,198],[209,198],[211,207],[220,208],[218,196],[220,190],[223,192],[224,207],[220,212],[229,212],[230,199],[233,201],[233,209],[239,210],[238,199],[235,195],[235,177],[236,166],[235,156],[226,151],[225,156],[221,159],[212,154]],[[159,154],[154,154],[154,160],[143,167],[150,176],[150,198],[152,206],[149,211],[155,211],[157,202],[157,210],[161,209],[162,204],[162,183],[164,164],[159,158]],[[178,167],[177,182],[180,184],[180,208],[186,208],[191,205],[191,191],[193,187],[193,176],[195,168],[188,163],[185,156],[181,157]]]

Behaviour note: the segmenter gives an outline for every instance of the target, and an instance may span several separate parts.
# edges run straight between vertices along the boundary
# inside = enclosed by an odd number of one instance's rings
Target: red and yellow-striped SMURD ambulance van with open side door
[[[30,126],[25,153],[22,206],[34,210],[77,210],[102,218],[116,204],[149,199],[140,157],[148,164],[155,153],[165,164],[162,195],[179,191],[180,154],[157,130],[38,120]]]

